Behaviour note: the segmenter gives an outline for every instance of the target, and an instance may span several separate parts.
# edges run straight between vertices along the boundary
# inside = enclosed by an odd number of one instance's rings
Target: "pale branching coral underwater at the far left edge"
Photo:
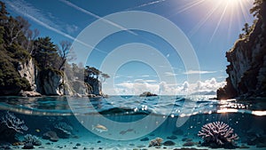
[[[1,123],[4,123],[8,129],[15,130],[20,133],[23,133],[22,130],[26,131],[28,129],[24,124],[24,121],[21,121],[20,118],[16,117],[9,111],[2,117]]]

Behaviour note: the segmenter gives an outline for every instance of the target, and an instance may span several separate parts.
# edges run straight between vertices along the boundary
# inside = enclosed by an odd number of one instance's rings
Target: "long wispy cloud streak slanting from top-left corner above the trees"
[[[48,28],[51,31],[58,33],[59,35],[65,36],[78,43],[82,43],[83,45],[87,47],[94,48],[97,51],[101,51],[91,46],[90,44],[83,43],[82,41],[77,40],[73,36],[70,36],[66,34],[65,32],[62,32],[61,30],[59,30],[57,25],[55,25],[54,23],[52,23],[51,20],[43,16],[42,13],[38,9],[35,9],[35,7],[33,7],[31,4],[28,4],[27,2],[23,0],[6,1],[5,3],[8,4],[14,12],[17,12],[27,17],[28,19],[35,21],[35,23],[43,26],[44,28]],[[101,51],[101,52],[106,53],[106,51]]]

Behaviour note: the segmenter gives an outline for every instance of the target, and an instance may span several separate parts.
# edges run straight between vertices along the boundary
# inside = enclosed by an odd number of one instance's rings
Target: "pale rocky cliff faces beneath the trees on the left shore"
[[[90,78],[86,83],[79,80],[69,81],[58,70],[48,68],[38,71],[32,59],[23,63],[20,62],[17,71],[30,86],[27,91],[20,91],[19,95],[21,96],[40,96],[38,93],[58,96],[102,95],[102,85],[98,79]],[[16,95],[16,93],[8,93],[8,95]]]

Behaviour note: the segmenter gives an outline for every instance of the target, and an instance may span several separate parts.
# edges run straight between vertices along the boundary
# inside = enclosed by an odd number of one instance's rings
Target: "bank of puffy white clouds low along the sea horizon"
[[[149,80],[137,79],[134,82],[127,81],[118,83],[115,85],[114,90],[118,95],[138,95],[144,91],[151,91],[160,95],[184,95],[201,91],[216,91],[224,85],[225,82],[219,83],[215,80],[215,78],[198,81],[197,83],[184,82],[179,85],[167,82],[149,83]],[[109,94],[112,95],[113,93]]]

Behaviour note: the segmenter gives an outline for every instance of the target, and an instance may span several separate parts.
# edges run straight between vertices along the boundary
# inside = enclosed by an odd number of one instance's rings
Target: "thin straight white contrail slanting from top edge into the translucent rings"
[[[86,13],[86,14],[90,15],[91,17],[94,17],[94,18],[96,18],[96,19],[98,19],[98,20],[99,20],[99,19],[100,19],[100,20],[103,20],[104,22],[106,22],[106,23],[112,25],[113,27],[120,28],[121,30],[125,30],[125,31],[129,32],[130,34],[137,36],[137,34],[136,34],[135,32],[130,31],[128,28],[124,28],[124,27],[122,27],[121,25],[116,24],[116,23],[114,23],[114,22],[111,21],[111,20],[106,20],[106,19],[104,19],[104,18],[98,16],[97,14],[92,13],[92,12],[89,12],[89,11],[83,9],[82,7],[79,7],[79,6],[75,5],[75,4],[72,4],[72,3],[70,3],[70,2],[68,2],[68,1],[66,1],[66,0],[59,0],[59,1],[62,2],[62,3],[64,3],[64,4],[66,4],[66,5],[68,5],[68,6],[70,6],[70,7],[72,7],[72,8],[74,8],[74,9],[76,9],[76,10],[78,10],[78,11],[80,11],[80,12]]]

